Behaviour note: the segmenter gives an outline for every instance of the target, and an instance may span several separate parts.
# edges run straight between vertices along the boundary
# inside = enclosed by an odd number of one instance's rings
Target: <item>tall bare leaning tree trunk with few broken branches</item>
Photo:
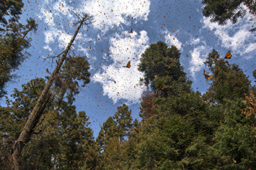
[[[35,127],[40,120],[40,117],[43,113],[42,106],[46,103],[46,96],[48,95],[48,92],[50,90],[51,85],[53,85],[53,80],[55,75],[58,74],[59,70],[61,69],[61,65],[63,64],[64,60],[66,59],[66,55],[69,52],[69,49],[71,48],[71,45],[73,44],[74,40],[76,39],[76,35],[79,32],[79,29],[81,28],[81,25],[84,23],[84,21],[87,19],[87,16],[84,16],[83,19],[81,19],[79,27],[77,27],[76,32],[74,33],[74,36],[72,37],[71,41],[69,42],[68,46],[66,47],[65,51],[63,52],[63,55],[61,59],[58,61],[58,65],[56,66],[55,70],[53,71],[53,74],[50,76],[48,82],[45,85],[45,88],[43,89],[43,92],[41,93],[40,97],[37,100],[37,103],[35,104],[35,107],[32,110],[32,113],[30,114],[30,117],[27,119],[27,123],[25,124],[24,128],[22,129],[22,132],[19,134],[19,138],[17,141],[15,141],[13,146],[13,154],[12,154],[12,160],[14,164],[14,169],[19,169],[19,155],[22,152],[22,148],[25,146],[25,144],[30,141],[30,136],[32,136],[32,133],[35,131]],[[44,104],[45,103],[45,104]]]

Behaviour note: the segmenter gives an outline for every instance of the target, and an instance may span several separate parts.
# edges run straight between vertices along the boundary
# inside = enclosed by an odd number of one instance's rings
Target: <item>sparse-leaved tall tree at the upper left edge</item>
[[[23,6],[22,0],[0,1],[0,98],[6,94],[6,83],[14,77],[12,72],[29,56],[25,52],[31,40],[27,34],[37,30],[34,19],[27,19],[27,24],[19,23]]]

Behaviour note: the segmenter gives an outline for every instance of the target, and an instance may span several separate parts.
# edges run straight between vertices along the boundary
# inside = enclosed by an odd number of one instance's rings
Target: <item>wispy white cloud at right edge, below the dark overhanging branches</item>
[[[245,6],[242,6],[246,8]],[[231,49],[233,52],[244,55],[246,53],[256,50],[256,37],[252,32],[249,32],[253,25],[253,21],[250,21],[252,16],[247,10],[247,14],[238,19],[236,24],[232,24],[230,21],[226,25],[221,26],[216,22],[210,22],[210,18],[203,17],[204,28],[211,29],[213,33],[221,41],[223,47]]]

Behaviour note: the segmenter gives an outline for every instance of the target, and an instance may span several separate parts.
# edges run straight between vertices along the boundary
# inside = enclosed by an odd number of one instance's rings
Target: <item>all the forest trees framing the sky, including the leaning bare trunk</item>
[[[213,3],[214,2],[214,3]],[[237,21],[243,1],[203,1],[212,22]],[[244,1],[255,14],[255,4]],[[27,33],[33,19],[19,23],[22,1],[1,1],[0,95],[14,78],[30,47]],[[220,7],[221,6],[221,7]],[[8,17],[7,17],[8,16]],[[7,19],[6,19],[7,17]],[[73,41],[91,16],[77,16]],[[255,30],[248,30],[254,32]],[[180,50],[164,42],[151,44],[138,70],[141,121],[123,104],[93,137],[86,112],[76,111],[79,82],[90,82],[89,62],[71,56],[68,47],[56,70],[14,89],[6,107],[0,106],[1,169],[254,169],[256,167],[256,88],[231,55],[208,54],[202,72],[210,88],[192,88],[180,63]],[[60,56],[58,56],[60,57]],[[224,58],[225,57],[225,58]],[[256,79],[256,70],[253,72]],[[35,117],[32,120],[32,117]]]

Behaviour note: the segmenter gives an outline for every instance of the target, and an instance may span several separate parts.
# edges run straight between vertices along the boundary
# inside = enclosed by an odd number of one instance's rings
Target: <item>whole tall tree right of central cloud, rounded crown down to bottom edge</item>
[[[195,148],[207,148],[213,137],[213,125],[208,121],[208,105],[200,93],[193,92],[192,82],[180,65],[179,50],[174,46],[168,48],[164,42],[151,44],[142,55],[139,68],[145,73],[142,82],[151,85],[154,95],[150,96],[152,99],[144,98],[142,103],[144,122],[136,167],[198,169],[206,159],[207,149],[196,152]],[[152,110],[155,114],[146,118]]]

